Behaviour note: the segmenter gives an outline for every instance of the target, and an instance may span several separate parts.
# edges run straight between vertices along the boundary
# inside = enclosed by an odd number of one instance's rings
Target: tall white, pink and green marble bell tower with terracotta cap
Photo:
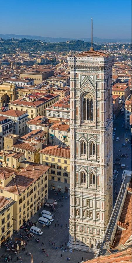
[[[68,57],[71,79],[69,248],[93,250],[113,207],[113,56],[92,47]]]

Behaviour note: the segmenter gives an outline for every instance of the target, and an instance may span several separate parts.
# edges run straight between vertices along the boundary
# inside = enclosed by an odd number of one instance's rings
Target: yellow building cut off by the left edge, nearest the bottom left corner
[[[1,179],[0,179],[1,180]],[[0,196],[0,247],[13,235],[13,205],[15,201]]]

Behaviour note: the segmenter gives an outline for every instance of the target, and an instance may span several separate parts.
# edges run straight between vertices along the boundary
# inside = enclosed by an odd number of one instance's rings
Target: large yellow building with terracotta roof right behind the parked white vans
[[[48,170],[50,166],[22,163],[18,174],[8,168],[0,168],[1,196],[16,201],[13,204],[13,230],[19,231],[48,199]]]

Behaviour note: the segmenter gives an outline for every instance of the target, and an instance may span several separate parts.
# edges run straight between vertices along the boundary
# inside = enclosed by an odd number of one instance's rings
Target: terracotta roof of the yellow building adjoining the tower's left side
[[[39,151],[39,153],[70,159],[70,148],[56,148],[54,146],[50,146],[50,148],[45,147],[43,150]]]

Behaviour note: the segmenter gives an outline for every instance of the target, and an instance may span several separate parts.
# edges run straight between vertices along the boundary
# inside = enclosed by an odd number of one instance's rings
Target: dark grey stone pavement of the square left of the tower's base
[[[64,195],[64,201],[62,202],[62,195]],[[65,196],[67,196],[67,200],[65,199]],[[61,198],[61,201],[58,201],[58,198]],[[42,224],[38,223],[38,218],[39,218],[39,214],[40,211],[38,211],[38,213],[31,219],[33,222],[37,221],[36,226],[38,226],[42,231],[43,234],[42,236],[37,236],[35,235],[34,238],[32,238],[32,240],[27,241],[25,238],[24,240],[26,240],[26,242],[28,243],[27,246],[25,246],[25,252],[26,250],[32,253],[32,257],[33,257],[33,263],[41,263],[41,261],[43,260],[44,263],[50,262],[50,263],[58,263],[58,262],[67,262],[66,258],[70,257],[70,261],[72,263],[80,263],[82,257],[84,260],[86,260],[86,258],[88,259],[92,259],[94,256],[93,253],[86,253],[83,251],[77,251],[75,250],[74,252],[70,252],[69,249],[67,249],[66,252],[64,252],[63,250],[61,250],[59,248],[60,245],[64,245],[64,248],[67,247],[65,244],[67,244],[68,240],[69,240],[69,217],[70,217],[70,198],[68,198],[67,194],[62,193],[61,195],[55,195],[55,192],[52,190],[49,190],[49,198],[54,198],[57,200],[58,204],[56,207],[56,212],[53,212],[53,218],[54,221],[52,222],[52,225],[49,227],[46,226],[44,229],[42,229]],[[63,206],[61,206],[63,205]],[[42,207],[42,209],[44,209],[44,207]],[[42,210],[41,209],[41,210]],[[45,207],[45,210],[50,210],[49,208]],[[55,227],[55,223],[57,225],[57,219],[59,219],[59,227]],[[61,224],[63,224],[63,226],[61,227]],[[67,224],[67,227],[66,227]],[[13,235],[13,240],[15,237],[20,238],[20,232],[23,233],[23,235],[25,236],[25,232],[23,230],[20,230],[19,233],[15,233]],[[35,238],[39,238],[40,239],[40,243],[36,243],[35,242]],[[55,243],[55,247],[58,247],[58,250],[55,250],[53,248],[53,246],[51,244],[49,244],[49,240],[51,240],[53,243]],[[46,256],[46,254],[42,253],[41,251],[41,247],[42,247],[42,242],[44,242],[44,249],[46,250],[46,253],[48,253],[48,257]],[[5,248],[1,248],[0,252],[5,252]],[[18,254],[21,256],[21,259],[23,260],[23,263],[30,263],[31,262],[31,257],[29,255],[26,256],[26,253],[21,251]],[[61,257],[61,254],[63,255]],[[11,255],[11,254],[8,254]],[[16,258],[17,256],[15,255],[11,255],[13,257],[12,262],[16,262]],[[20,262],[20,261],[18,261]]]

